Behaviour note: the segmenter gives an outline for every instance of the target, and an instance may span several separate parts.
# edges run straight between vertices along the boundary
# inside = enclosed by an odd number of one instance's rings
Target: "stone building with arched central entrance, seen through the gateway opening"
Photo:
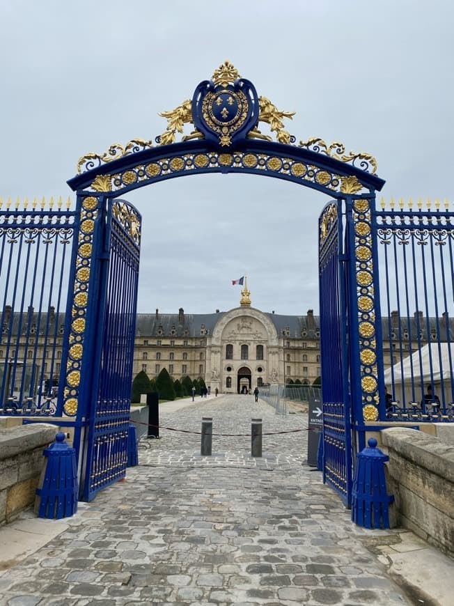
[[[209,314],[139,313],[134,375],[150,378],[166,368],[173,379],[189,375],[211,389],[237,393],[265,383],[320,377],[318,317],[281,316],[251,306],[247,286],[240,306]]]

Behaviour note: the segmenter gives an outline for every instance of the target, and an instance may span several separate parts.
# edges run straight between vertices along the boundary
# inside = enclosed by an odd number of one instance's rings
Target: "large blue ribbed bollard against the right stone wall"
[[[352,490],[352,522],[365,528],[389,528],[389,504],[394,497],[386,492],[384,463],[389,456],[370,437],[368,446],[357,454]]]

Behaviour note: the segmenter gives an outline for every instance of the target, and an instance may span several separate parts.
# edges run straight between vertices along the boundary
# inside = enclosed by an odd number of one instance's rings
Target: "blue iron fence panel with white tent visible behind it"
[[[375,212],[386,417],[454,421],[454,216],[391,206]]]

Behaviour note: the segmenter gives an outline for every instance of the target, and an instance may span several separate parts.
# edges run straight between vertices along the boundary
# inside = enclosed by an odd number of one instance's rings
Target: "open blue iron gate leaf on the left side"
[[[100,255],[97,347],[92,360],[83,497],[125,476],[139,279],[141,216],[129,203],[109,201]]]

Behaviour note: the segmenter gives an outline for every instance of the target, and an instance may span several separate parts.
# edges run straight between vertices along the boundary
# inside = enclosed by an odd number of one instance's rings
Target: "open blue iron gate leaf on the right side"
[[[350,506],[352,435],[348,391],[346,275],[341,261],[341,201],[319,219],[320,348],[322,362],[324,481]]]

